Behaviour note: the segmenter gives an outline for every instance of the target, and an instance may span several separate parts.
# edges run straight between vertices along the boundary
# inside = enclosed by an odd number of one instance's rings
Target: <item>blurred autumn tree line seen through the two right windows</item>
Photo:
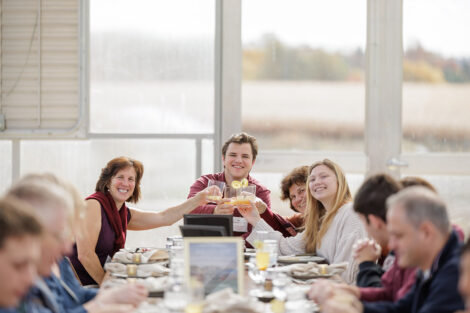
[[[243,77],[249,80],[362,81],[365,53],[329,52],[308,45],[289,46],[267,34],[243,49]],[[420,44],[403,55],[403,79],[428,83],[470,82],[470,57],[445,58]]]

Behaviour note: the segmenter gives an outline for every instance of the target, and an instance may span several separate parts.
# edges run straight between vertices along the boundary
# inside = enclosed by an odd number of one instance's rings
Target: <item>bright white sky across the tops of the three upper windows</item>
[[[365,47],[367,0],[242,0],[242,40],[273,33],[291,45]],[[213,36],[214,0],[93,0],[92,30],[145,30],[167,38]],[[110,9],[111,8],[111,9]],[[403,0],[404,47],[420,42],[470,57],[470,0]]]

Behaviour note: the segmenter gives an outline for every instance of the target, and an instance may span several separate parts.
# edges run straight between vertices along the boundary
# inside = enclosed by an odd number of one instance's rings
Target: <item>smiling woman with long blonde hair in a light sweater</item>
[[[331,264],[348,262],[342,278],[349,284],[354,283],[358,265],[352,256],[352,247],[367,233],[352,208],[351,192],[343,170],[328,159],[316,162],[309,167],[306,188],[305,231],[289,238],[277,233],[280,254],[315,252]],[[239,210],[253,225],[254,231],[246,238],[249,243],[253,244],[258,239],[256,231],[273,231],[259,217],[257,210],[251,207]]]

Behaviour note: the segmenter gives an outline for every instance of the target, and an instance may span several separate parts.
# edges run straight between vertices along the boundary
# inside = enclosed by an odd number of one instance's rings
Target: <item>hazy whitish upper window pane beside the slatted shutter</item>
[[[90,1],[90,131],[214,132],[215,2]]]

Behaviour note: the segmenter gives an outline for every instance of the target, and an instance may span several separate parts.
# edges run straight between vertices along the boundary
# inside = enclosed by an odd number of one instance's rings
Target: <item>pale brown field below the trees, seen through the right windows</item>
[[[363,83],[248,81],[242,103],[266,148],[362,150]],[[402,116],[405,150],[470,151],[470,84],[405,83]]]

